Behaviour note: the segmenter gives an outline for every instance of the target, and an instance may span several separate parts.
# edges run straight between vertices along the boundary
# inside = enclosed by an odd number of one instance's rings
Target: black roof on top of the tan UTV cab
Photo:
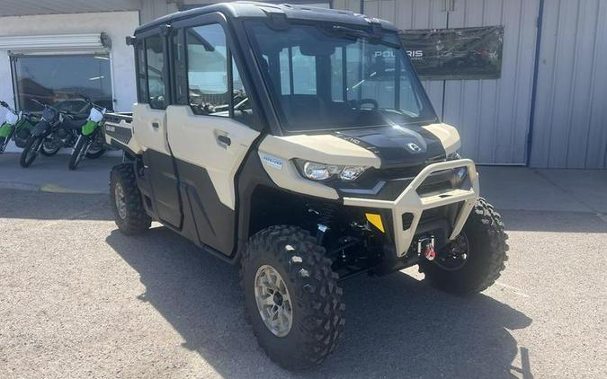
[[[307,5],[292,4],[269,4],[255,3],[250,1],[237,1],[233,3],[219,3],[201,8],[194,8],[188,11],[167,14],[152,22],[147,22],[135,30],[135,34],[154,28],[162,24],[170,24],[177,20],[190,18],[205,13],[220,12],[228,18],[268,18],[274,14],[284,15],[288,20],[308,20],[319,22],[335,22],[342,24],[352,24],[360,26],[369,26],[370,22],[377,22],[382,29],[388,31],[397,31],[397,27],[391,22],[367,17],[360,13],[342,11],[337,9],[326,9]]]

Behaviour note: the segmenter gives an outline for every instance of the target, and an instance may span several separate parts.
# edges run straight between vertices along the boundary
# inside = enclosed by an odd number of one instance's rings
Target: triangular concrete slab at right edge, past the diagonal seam
[[[535,170],[597,213],[607,214],[607,170]]]

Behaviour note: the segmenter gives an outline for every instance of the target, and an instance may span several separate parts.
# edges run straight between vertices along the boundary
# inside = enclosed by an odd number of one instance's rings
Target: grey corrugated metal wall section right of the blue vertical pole
[[[531,166],[607,168],[607,1],[546,0]]]

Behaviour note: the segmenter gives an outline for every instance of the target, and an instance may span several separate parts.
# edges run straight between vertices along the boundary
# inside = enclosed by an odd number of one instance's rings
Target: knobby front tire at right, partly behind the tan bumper
[[[421,260],[420,269],[431,285],[456,295],[470,295],[492,286],[508,260],[508,235],[502,217],[484,198],[478,198],[460,236],[437,253]]]

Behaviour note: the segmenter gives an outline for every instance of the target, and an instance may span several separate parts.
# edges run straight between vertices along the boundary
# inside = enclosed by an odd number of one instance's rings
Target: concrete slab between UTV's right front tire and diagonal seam
[[[478,172],[481,196],[498,209],[595,213],[529,168],[478,166]]]

